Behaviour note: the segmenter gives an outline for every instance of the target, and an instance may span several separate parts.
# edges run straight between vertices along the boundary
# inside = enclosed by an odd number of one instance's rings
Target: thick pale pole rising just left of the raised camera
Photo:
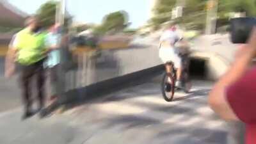
[[[216,33],[216,23],[217,23],[217,13],[218,13],[218,0],[209,0],[207,2],[207,17],[205,34],[211,35]]]

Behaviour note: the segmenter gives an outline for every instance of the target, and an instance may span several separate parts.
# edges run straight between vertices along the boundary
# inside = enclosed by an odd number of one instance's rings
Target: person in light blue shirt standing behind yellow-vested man
[[[51,49],[45,61],[45,67],[49,68],[51,79],[51,102],[55,101],[60,94],[60,24],[53,24],[49,29],[46,37],[46,45],[48,49]]]

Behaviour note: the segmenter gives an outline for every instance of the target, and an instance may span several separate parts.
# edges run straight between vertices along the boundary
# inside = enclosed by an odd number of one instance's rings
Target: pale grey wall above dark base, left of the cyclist
[[[77,59],[78,67],[67,72],[67,81],[72,81],[68,84],[68,90],[162,64],[158,57],[158,48],[154,45],[132,45],[127,49],[87,52],[80,54]]]

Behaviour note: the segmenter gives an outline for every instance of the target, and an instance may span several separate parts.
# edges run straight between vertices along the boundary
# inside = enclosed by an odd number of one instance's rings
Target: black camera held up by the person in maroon
[[[256,26],[256,19],[254,17],[239,17],[231,19],[231,42],[234,44],[246,43],[254,26]]]

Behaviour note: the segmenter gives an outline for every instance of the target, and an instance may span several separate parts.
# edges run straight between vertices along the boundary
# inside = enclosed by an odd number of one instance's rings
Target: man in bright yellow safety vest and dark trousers
[[[29,17],[25,22],[26,28],[19,31],[12,42],[12,49],[7,56],[10,61],[17,62],[20,69],[20,86],[22,89],[22,98],[24,102],[24,115],[22,119],[33,116],[34,111],[31,109],[31,84],[32,77],[36,76],[36,88],[37,96],[39,100],[39,109],[42,110],[45,106],[45,93],[44,93],[44,61],[47,56],[47,52],[51,49],[47,49],[45,46],[45,38],[47,33],[41,31],[40,24],[36,17]],[[10,62],[9,62],[10,63]],[[13,70],[6,68],[6,76],[10,77]]]

